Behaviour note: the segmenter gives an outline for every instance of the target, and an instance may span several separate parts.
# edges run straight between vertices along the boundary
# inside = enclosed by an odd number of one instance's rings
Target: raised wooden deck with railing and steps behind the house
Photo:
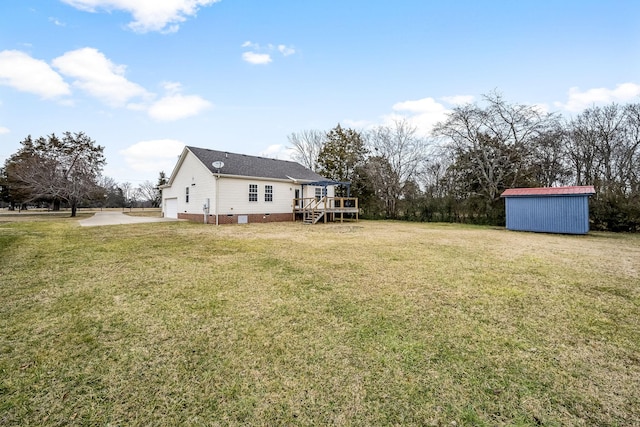
[[[320,220],[324,223],[327,221],[344,221],[344,214],[353,215],[358,221],[357,197],[323,197],[320,200],[315,197],[293,199],[293,220],[296,215],[302,217],[305,224],[315,224]]]

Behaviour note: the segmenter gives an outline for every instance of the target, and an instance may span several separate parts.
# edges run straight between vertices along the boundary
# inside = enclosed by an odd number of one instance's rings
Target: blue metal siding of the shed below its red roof
[[[589,232],[589,197],[505,197],[507,229],[541,233]]]

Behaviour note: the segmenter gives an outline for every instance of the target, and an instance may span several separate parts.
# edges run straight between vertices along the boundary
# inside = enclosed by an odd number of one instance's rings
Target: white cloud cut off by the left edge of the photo
[[[0,84],[45,99],[71,93],[69,85],[49,64],[17,50],[0,52]]]

